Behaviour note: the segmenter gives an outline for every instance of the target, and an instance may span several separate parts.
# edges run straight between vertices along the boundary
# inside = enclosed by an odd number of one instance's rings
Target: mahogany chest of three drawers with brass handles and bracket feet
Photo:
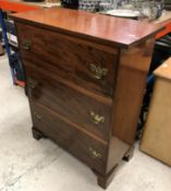
[[[34,138],[53,140],[89,166],[106,188],[120,160],[132,155],[161,27],[54,8],[12,17]]]

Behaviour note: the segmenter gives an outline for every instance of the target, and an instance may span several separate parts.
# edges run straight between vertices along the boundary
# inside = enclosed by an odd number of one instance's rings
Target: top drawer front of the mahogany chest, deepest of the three
[[[117,49],[109,52],[107,47],[98,49],[94,44],[20,23],[17,35],[24,61],[95,93],[113,95]]]

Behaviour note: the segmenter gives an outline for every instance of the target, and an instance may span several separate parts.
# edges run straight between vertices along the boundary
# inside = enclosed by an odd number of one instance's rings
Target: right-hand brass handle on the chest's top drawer
[[[89,70],[93,72],[94,77],[96,79],[103,79],[108,73],[108,69],[95,65],[94,63],[89,64]]]

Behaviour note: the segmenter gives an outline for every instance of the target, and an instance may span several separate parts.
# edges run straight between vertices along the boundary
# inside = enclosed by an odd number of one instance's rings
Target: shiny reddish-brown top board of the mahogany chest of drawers
[[[145,40],[163,27],[157,24],[94,14],[85,11],[51,8],[17,13],[15,21],[32,22],[39,27],[64,32],[65,34],[89,40],[100,40],[100,44],[129,47]]]

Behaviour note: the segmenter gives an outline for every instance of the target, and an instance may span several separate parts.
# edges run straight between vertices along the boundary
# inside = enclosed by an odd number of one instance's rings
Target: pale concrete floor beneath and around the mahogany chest
[[[30,133],[28,102],[0,57],[0,191],[102,191],[84,164]],[[141,153],[120,167],[107,191],[171,191],[171,168]]]

